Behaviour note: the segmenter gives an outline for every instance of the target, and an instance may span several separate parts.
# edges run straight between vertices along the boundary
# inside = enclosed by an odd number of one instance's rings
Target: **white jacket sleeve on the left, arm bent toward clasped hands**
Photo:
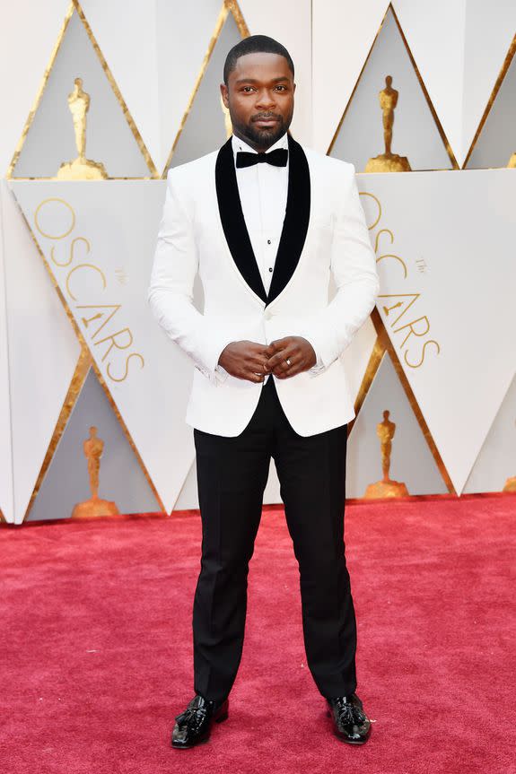
[[[194,306],[197,246],[193,224],[176,190],[174,174],[169,170],[167,175],[147,303],[171,340],[187,352],[212,383],[218,384],[224,376],[217,369],[217,363],[232,338]]]

